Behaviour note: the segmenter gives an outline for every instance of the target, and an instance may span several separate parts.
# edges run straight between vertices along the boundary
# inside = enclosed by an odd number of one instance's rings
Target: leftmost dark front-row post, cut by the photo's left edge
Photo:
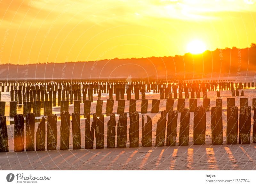
[[[9,152],[6,116],[0,116],[0,153]]]

